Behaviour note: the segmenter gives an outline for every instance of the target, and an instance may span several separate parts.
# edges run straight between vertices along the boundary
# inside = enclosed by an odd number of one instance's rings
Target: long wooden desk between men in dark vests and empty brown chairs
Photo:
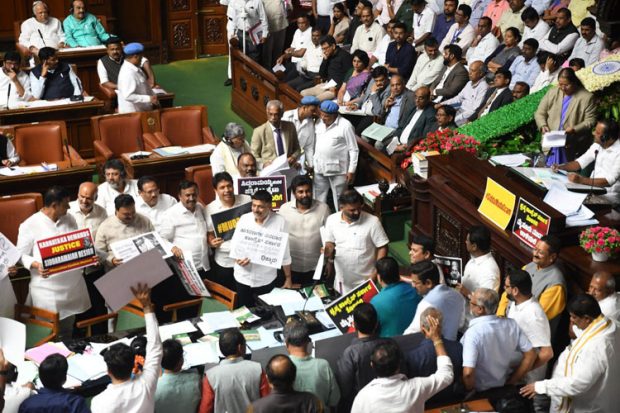
[[[103,102],[95,98],[68,105],[1,110],[0,125],[63,120],[67,124],[69,145],[87,159],[95,156],[90,118],[99,115],[102,109]]]

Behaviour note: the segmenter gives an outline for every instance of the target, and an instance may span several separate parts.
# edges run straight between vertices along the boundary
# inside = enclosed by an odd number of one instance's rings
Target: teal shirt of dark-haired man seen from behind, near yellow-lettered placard
[[[409,283],[399,281],[383,287],[381,292],[370,300],[370,304],[377,310],[379,335],[381,337],[401,335],[411,324],[421,299],[422,297]]]

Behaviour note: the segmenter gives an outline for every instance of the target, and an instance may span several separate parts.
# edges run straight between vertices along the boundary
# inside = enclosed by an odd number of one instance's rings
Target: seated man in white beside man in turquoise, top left
[[[60,20],[49,15],[49,6],[44,1],[32,3],[33,17],[24,20],[21,25],[18,43],[36,56],[39,49],[65,47],[65,32]]]

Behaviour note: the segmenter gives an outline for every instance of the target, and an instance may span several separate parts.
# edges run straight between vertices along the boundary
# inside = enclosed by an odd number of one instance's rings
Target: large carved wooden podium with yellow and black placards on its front
[[[520,268],[532,260],[532,249],[512,233],[514,216],[506,230],[501,230],[478,212],[484,196],[487,177],[551,218],[549,234],[562,239],[560,264],[573,292],[587,290],[594,271],[607,270],[620,275],[620,263],[593,263],[589,254],[578,247],[578,235],[583,228],[565,228],[565,217],[543,202],[544,190],[525,181],[504,166],[494,166],[475,156],[455,151],[448,155],[429,157],[428,179],[414,176],[412,193],[412,235],[424,234],[436,241],[436,254],[469,260],[465,249],[467,230],[477,224],[486,225],[492,232],[492,251],[506,274],[509,267]],[[618,226],[610,210],[597,212],[601,225]]]

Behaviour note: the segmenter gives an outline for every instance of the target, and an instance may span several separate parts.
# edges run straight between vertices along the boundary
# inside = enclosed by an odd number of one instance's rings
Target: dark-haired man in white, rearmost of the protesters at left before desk
[[[114,199],[120,194],[128,194],[134,200],[138,199],[138,181],[127,179],[125,165],[120,159],[108,159],[103,165],[103,174],[105,182],[99,185],[96,202],[105,208],[108,215],[114,215]]]

